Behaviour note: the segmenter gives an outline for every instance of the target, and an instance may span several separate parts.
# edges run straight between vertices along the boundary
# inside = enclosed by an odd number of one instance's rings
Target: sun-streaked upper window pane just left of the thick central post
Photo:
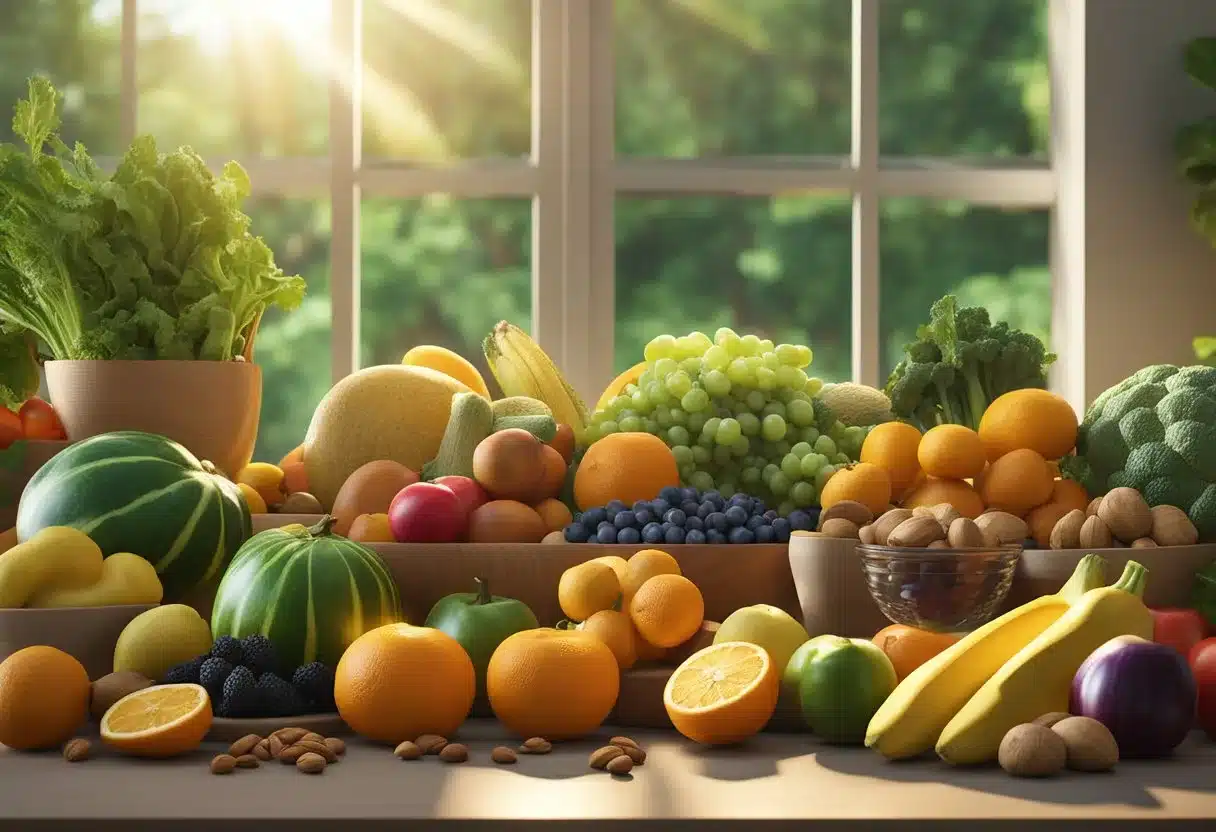
[[[531,0],[365,0],[364,152],[531,151]]]

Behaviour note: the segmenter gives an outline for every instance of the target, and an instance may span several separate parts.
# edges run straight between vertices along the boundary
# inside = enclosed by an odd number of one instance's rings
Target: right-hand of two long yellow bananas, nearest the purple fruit
[[[1128,561],[1116,584],[1086,592],[955,714],[938,740],[938,755],[953,765],[987,763],[1013,726],[1068,713],[1073,676],[1090,653],[1118,636],[1153,639],[1153,615],[1142,600],[1147,574]]]

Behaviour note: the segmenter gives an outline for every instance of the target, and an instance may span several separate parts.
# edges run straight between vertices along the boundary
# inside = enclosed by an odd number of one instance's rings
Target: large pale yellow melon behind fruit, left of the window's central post
[[[356,468],[394,460],[411,471],[430,461],[447,428],[451,399],[465,384],[428,367],[365,367],[334,384],[304,438],[309,488],[326,508]]]

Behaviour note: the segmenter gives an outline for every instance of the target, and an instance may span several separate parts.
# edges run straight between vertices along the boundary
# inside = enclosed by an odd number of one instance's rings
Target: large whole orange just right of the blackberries
[[[455,733],[473,707],[475,687],[473,662],[450,635],[385,624],[342,654],[333,698],[353,731],[395,744],[423,733]]]

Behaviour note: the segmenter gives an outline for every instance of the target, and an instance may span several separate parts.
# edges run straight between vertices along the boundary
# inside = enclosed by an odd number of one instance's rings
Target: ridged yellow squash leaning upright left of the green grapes
[[[523,395],[544,401],[559,425],[569,425],[582,435],[587,406],[531,336],[518,326],[500,321],[482,344],[503,395]]]

